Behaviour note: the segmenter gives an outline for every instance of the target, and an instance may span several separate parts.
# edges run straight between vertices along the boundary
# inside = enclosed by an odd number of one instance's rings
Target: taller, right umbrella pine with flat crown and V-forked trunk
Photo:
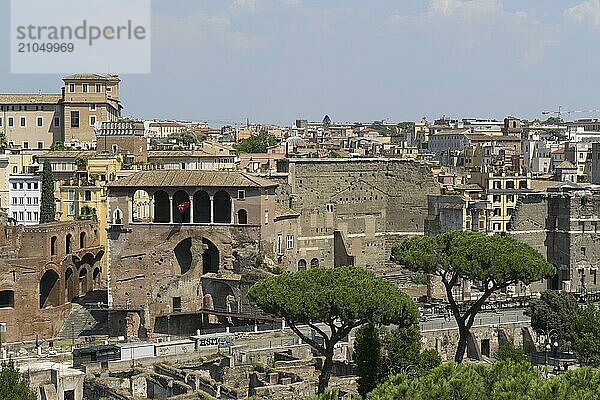
[[[552,264],[531,246],[508,236],[488,236],[468,231],[415,237],[392,248],[392,259],[414,272],[440,278],[458,325],[459,340],[454,360],[462,362],[469,331],[481,306],[496,291],[517,282],[529,284],[550,278]],[[481,295],[462,311],[452,288],[463,279],[480,282]]]

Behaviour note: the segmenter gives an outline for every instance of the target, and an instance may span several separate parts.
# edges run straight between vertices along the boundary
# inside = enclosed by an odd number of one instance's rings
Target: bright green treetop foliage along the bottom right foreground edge
[[[416,379],[396,375],[367,400],[592,400],[599,388],[600,371],[590,368],[544,379],[529,363],[447,363]]]

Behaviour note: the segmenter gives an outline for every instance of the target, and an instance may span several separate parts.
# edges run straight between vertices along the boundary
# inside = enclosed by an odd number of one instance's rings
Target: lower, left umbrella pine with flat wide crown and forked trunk
[[[271,276],[255,283],[248,297],[265,312],[284,318],[290,328],[325,357],[318,392],[329,383],[336,343],[364,323],[417,324],[408,295],[371,271],[358,267],[315,268]],[[321,341],[299,325],[310,326]],[[323,326],[324,325],[324,326]]]

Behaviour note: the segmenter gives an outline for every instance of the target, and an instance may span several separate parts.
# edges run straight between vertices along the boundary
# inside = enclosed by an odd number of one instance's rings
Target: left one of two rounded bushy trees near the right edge
[[[546,290],[539,299],[529,302],[525,312],[531,317],[531,327],[539,331],[556,329],[561,340],[572,340],[572,328],[579,306],[575,297],[567,292]]]

